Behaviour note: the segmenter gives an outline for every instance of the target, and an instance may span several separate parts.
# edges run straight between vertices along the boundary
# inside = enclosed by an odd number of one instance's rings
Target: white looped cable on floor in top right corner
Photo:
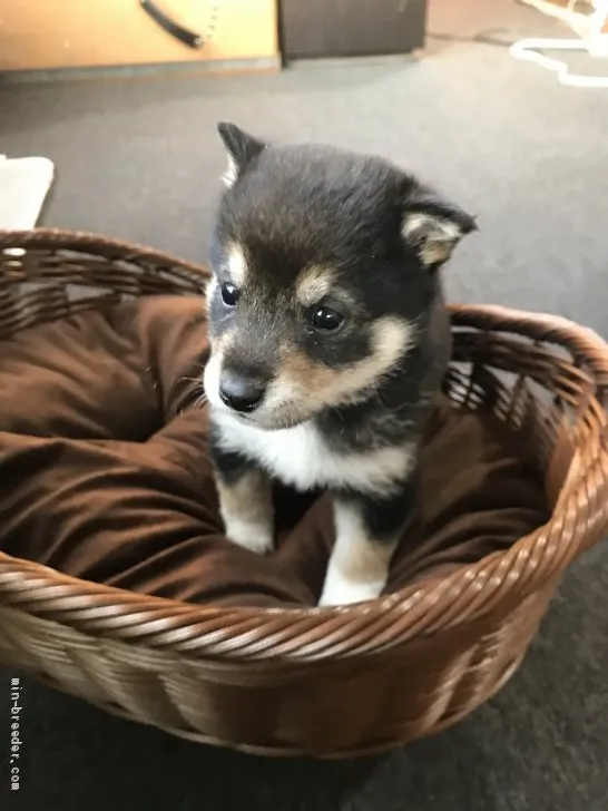
[[[572,28],[580,39],[549,39],[535,37],[521,39],[509,48],[514,59],[536,62],[547,70],[557,72],[558,81],[569,87],[608,87],[608,76],[578,76],[570,74],[568,65],[539,53],[539,50],[586,50],[594,57],[608,57],[608,33],[602,28],[608,20],[608,0],[594,0],[594,11],[580,14],[572,11],[573,0],[569,0],[568,9],[559,9],[545,0],[522,0],[543,13],[557,17]]]

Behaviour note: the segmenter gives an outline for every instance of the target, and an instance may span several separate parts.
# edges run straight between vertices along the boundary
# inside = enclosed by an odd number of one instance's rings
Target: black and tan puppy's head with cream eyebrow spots
[[[472,218],[380,158],[219,133],[210,404],[276,429],[365,400],[415,345]]]

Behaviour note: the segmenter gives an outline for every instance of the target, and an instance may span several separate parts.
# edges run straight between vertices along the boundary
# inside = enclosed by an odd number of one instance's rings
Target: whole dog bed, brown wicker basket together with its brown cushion
[[[223,537],[206,272],[42,229],[0,233],[0,658],[59,688],[253,751],[382,749],[493,694],[606,529],[605,344],[455,309],[385,595],[316,608],[325,495],[276,487],[268,557]]]

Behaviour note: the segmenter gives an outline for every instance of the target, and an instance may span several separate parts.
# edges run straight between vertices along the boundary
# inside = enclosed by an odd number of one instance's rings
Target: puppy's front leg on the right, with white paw
[[[413,478],[388,497],[335,496],[335,544],[318,605],[362,603],[381,594],[414,506]]]

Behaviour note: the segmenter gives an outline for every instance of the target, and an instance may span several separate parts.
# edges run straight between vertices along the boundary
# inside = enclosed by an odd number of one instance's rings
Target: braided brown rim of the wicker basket
[[[117,257],[146,257],[154,264],[183,268],[202,279],[209,275],[203,265],[95,233],[60,228],[0,229],[0,251],[19,247],[20,242],[32,250],[51,247],[85,252],[99,245],[110,246],[116,250]],[[589,361],[601,390],[608,387],[608,344],[589,328],[549,313],[493,304],[457,304],[449,310],[453,328],[517,333],[526,325],[528,338],[531,328],[538,332],[539,340],[541,336],[549,340],[548,335],[560,340]],[[548,543],[548,536],[550,531],[559,537],[567,534],[568,516],[580,499],[594,505],[586,535],[597,536],[608,528],[608,488],[600,491],[594,485],[600,479],[598,469],[608,469],[604,440],[598,450],[601,452],[577,479],[559,511],[509,549],[463,565],[445,577],[411,584],[369,603],[272,608],[195,605],[81,580],[0,553],[0,588],[3,583],[11,584],[11,598],[7,600],[1,592],[0,605],[17,609],[27,602],[30,614],[87,634],[170,649],[193,658],[220,658],[224,663],[243,659],[311,662],[379,653],[406,639],[472,623],[490,612],[504,610],[546,585],[552,576],[559,576],[582,551],[585,538],[577,538],[557,554],[555,545],[551,547]],[[607,473],[604,480],[608,480]],[[551,566],[539,567],[538,563],[551,555]],[[509,573],[516,560],[521,563],[522,558],[531,561],[527,577],[512,583]],[[14,584],[19,586],[16,588]],[[447,595],[451,595],[451,599],[445,600]],[[228,627],[229,636],[223,633]],[[320,634],[321,628],[323,634]],[[306,642],[307,631],[314,632],[310,643]]]

